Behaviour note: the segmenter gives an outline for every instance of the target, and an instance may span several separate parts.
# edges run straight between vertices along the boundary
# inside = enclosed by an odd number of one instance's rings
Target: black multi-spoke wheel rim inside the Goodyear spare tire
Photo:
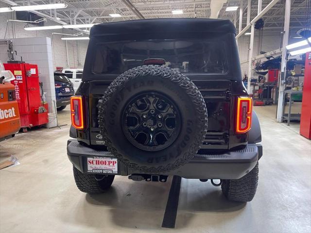
[[[146,151],[163,150],[172,145],[180,132],[180,113],[165,95],[141,93],[126,104],[121,127],[135,147]]]

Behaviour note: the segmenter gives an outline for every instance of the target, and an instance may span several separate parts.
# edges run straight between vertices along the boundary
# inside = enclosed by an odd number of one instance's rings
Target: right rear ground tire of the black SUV
[[[238,180],[223,180],[222,191],[228,200],[253,200],[258,184],[258,163],[245,176]]]

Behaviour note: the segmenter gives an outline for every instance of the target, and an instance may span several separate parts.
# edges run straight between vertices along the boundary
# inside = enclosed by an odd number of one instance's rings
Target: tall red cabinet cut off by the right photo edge
[[[305,78],[303,81],[300,134],[311,139],[311,52],[306,54]]]

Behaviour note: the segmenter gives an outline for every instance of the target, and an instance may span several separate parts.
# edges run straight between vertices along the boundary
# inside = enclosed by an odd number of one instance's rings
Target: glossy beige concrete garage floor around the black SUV
[[[259,185],[253,201],[225,200],[220,187],[183,179],[176,229],[161,223],[171,180],[116,177],[102,195],[80,192],[66,155],[69,108],[61,128],[36,129],[0,143],[0,158],[20,165],[0,170],[1,233],[311,232],[311,141],[297,126],[278,124],[275,106],[255,107],[263,134]]]

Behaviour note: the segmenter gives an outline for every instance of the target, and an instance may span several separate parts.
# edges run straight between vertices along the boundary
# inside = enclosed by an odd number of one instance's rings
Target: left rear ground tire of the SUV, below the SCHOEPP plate
[[[82,173],[73,166],[74,181],[81,192],[104,193],[110,188],[115,176],[106,175],[103,180],[95,180],[95,174]]]

